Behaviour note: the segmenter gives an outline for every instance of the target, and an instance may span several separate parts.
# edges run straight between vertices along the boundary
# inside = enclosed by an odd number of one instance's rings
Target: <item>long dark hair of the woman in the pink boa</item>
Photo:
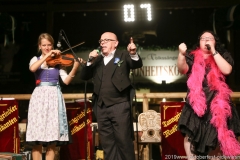
[[[219,37],[211,30],[205,30],[202,33],[199,34],[198,36],[198,42],[193,46],[193,48],[191,50],[189,50],[189,52],[196,50],[197,48],[200,47],[200,37],[204,34],[204,33],[210,33],[213,35],[214,39],[215,39],[215,49],[218,51],[218,53],[220,53],[221,55],[225,52],[227,52],[227,50],[224,48],[224,45],[221,43]]]

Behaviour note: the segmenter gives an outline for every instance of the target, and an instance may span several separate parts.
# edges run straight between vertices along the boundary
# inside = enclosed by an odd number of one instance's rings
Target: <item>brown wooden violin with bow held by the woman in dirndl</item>
[[[81,44],[83,44],[84,42],[76,45],[76,46],[79,46]],[[76,47],[76,46],[73,46],[72,48]],[[70,49],[70,48],[69,48]],[[64,51],[62,51],[61,53],[63,52],[66,52],[68,51],[69,49],[66,49]],[[53,55],[53,56],[50,56],[46,59],[46,63],[48,66],[50,67],[55,67],[56,65],[60,64],[61,66],[65,66],[65,67],[69,67],[69,66],[72,66],[73,63],[74,63],[74,59],[76,59],[79,63],[81,63],[77,56],[76,55],[72,55],[72,54],[65,54],[65,55]],[[85,61],[82,61],[83,63],[86,63]]]

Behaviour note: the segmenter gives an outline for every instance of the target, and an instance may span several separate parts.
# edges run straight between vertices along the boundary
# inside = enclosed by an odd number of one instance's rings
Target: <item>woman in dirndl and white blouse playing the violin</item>
[[[34,56],[29,64],[29,69],[36,79],[36,88],[29,102],[26,132],[26,143],[32,146],[33,160],[42,159],[42,147],[46,147],[46,159],[53,160],[55,147],[67,144],[70,140],[59,77],[64,84],[68,85],[80,63],[75,60],[69,73],[61,65],[49,67],[46,59],[52,55],[61,54],[61,51],[53,49],[53,44],[54,39],[51,35],[40,34],[38,50],[41,55]]]

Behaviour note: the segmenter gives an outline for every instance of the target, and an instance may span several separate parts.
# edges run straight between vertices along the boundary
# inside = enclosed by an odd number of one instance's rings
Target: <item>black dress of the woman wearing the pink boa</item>
[[[222,57],[228,61],[232,66],[234,65],[234,61],[229,53],[224,53]],[[187,76],[191,73],[192,65],[193,65],[194,55],[187,53],[186,61],[189,65],[189,71]],[[204,116],[199,117],[191,105],[189,104],[189,99],[186,98],[186,103],[182,109],[181,116],[178,122],[178,129],[183,134],[183,136],[188,135],[189,141],[191,143],[191,151],[196,155],[207,155],[211,149],[215,149],[218,144],[217,139],[217,130],[210,123],[212,118],[210,111],[210,103],[214,98],[215,92],[209,89],[206,75],[209,73],[210,68],[206,67],[204,80],[202,83],[202,88],[206,95],[206,104],[207,110],[205,111]],[[187,95],[189,94],[189,89],[187,91]],[[234,104],[229,102],[232,110],[232,117],[228,118],[228,129],[232,130],[236,138],[240,135],[240,120]]]

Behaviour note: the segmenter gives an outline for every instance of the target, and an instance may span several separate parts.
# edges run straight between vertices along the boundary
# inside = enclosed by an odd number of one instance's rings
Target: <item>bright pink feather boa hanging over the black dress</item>
[[[217,129],[220,148],[225,156],[237,156],[240,154],[240,144],[232,130],[228,129],[227,118],[232,116],[229,105],[231,90],[225,83],[225,76],[218,69],[212,56],[204,60],[200,49],[195,50],[192,73],[189,76],[187,85],[190,89],[189,101],[194,112],[202,117],[207,109],[206,97],[202,89],[202,82],[205,74],[206,64],[210,64],[210,72],[207,75],[210,90],[216,90],[210,106],[212,119],[211,124]],[[231,157],[234,159],[234,157]]]

